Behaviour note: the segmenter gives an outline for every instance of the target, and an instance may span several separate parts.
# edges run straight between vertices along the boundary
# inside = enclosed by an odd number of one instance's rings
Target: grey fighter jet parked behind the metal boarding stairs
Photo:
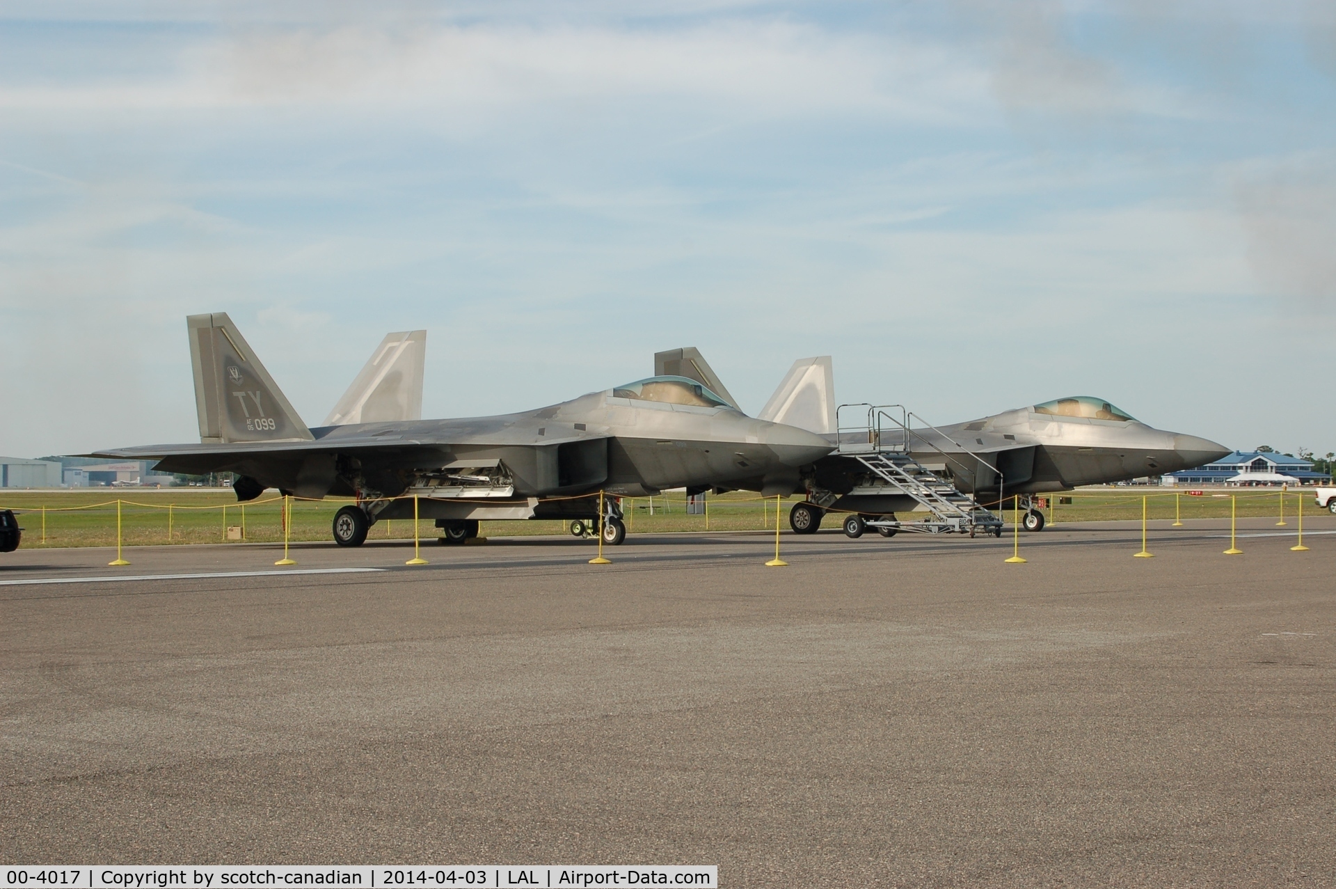
[[[1089,396],[942,428],[899,405],[838,405],[828,356],[795,361],[758,416],[818,433],[832,451],[839,445],[860,449],[850,444],[903,451],[983,505],[1021,496],[1026,504],[1023,527],[1030,531],[1043,528],[1043,513],[1030,505],[1030,495],[1190,469],[1230,453],[1206,438],[1153,429],[1109,401]],[[871,475],[854,455],[832,452],[816,460],[803,476],[807,500],[790,511],[794,531],[815,532],[827,509],[871,517],[918,507],[907,495],[887,492]]]

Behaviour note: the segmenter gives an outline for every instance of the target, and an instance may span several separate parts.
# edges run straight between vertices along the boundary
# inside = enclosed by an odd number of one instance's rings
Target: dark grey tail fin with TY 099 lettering
[[[314,438],[226,313],[188,315],[186,328],[200,441]]]

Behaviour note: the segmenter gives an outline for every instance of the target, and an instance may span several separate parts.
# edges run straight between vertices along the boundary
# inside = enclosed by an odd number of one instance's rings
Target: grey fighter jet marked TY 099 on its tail
[[[346,547],[377,520],[411,519],[414,508],[450,543],[476,536],[484,519],[589,519],[619,544],[619,496],[712,485],[787,495],[800,469],[832,449],[806,429],[743,414],[731,396],[685,373],[521,413],[418,420],[422,332],[386,337],[326,425],[311,429],[224,313],[190,315],[187,330],[200,442],[98,456],[158,459],[164,472],[234,472],[242,501],[266,488],[357,497],[334,517],[334,540]],[[715,378],[695,349],[675,354],[675,368]]]

